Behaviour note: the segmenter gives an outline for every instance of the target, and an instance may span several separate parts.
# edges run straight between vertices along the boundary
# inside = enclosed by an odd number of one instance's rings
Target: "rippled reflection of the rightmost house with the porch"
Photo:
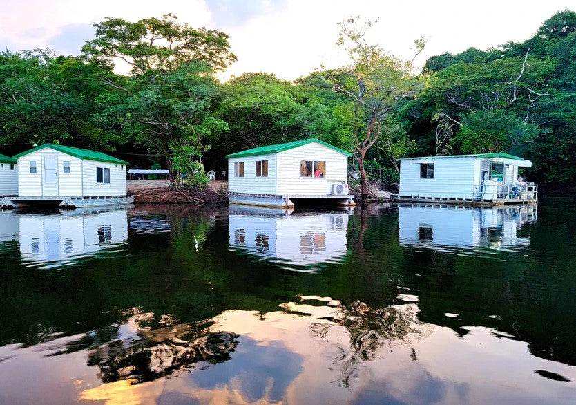
[[[522,224],[536,220],[536,205],[513,207],[456,207],[400,205],[401,245],[423,247],[527,246],[517,236]]]

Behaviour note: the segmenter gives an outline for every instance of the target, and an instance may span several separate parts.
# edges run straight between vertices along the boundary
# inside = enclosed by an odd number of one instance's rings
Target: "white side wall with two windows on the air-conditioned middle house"
[[[268,177],[256,177],[256,162],[268,160]],[[234,177],[234,163],[244,162],[244,177]],[[228,160],[228,191],[231,193],[276,194],[276,154]]]

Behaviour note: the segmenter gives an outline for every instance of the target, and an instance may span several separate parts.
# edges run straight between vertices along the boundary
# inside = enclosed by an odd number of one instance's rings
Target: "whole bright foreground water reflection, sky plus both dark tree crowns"
[[[323,296],[266,313],[224,310],[195,323],[132,308],[102,330],[0,348],[0,399],[24,375],[29,399],[42,398],[46,384],[66,387],[44,397],[47,404],[570,404],[576,397],[576,368],[533,357],[526,343],[492,328],[467,327],[459,337],[420,321],[419,312],[417,303],[371,308]],[[84,359],[73,385],[66,371],[59,381],[39,361],[71,356],[76,367]]]

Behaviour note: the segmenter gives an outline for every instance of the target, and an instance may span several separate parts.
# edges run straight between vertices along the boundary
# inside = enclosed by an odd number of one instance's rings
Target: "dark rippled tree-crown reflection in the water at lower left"
[[[152,329],[153,314],[135,312],[127,323],[134,335],[123,339],[118,326],[111,326],[67,343],[54,355],[88,349],[88,365],[98,366],[102,382],[141,383],[195,368],[201,361],[222,363],[238,345],[239,335],[209,332],[211,321],[179,324],[173,316],[162,315],[159,323],[164,327]]]

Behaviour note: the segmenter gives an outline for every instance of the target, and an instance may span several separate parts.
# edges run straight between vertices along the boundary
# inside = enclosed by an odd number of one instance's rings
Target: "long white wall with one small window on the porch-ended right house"
[[[474,160],[473,156],[401,160],[399,196],[474,198],[478,193]],[[434,178],[420,178],[422,163],[434,163]]]

